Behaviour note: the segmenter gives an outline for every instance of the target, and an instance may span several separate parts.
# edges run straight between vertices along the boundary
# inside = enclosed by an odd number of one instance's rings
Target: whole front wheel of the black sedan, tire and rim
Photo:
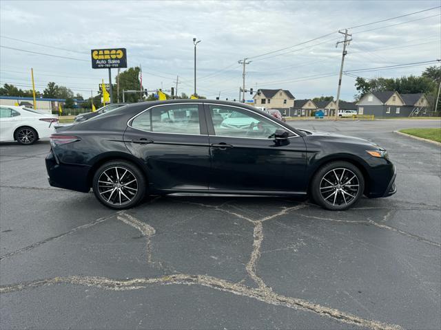
[[[344,161],[320,167],[311,181],[311,197],[327,210],[347,210],[365,190],[365,178],[357,166]]]

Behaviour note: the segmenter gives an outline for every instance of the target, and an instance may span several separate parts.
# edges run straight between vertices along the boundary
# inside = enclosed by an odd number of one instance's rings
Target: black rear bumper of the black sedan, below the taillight
[[[50,186],[89,192],[88,174],[90,166],[60,163],[52,150],[46,157],[45,162]]]

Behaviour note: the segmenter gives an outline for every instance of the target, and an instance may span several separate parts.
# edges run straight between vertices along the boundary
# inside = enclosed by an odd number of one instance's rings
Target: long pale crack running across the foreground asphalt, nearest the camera
[[[349,325],[356,325],[358,327],[367,327],[374,330],[400,330],[399,325],[389,325],[384,322],[376,320],[368,320],[360,318],[353,314],[339,311],[338,309],[325,307],[322,305],[310,303],[307,300],[300,298],[292,298],[277,294],[268,290],[267,288],[251,288],[239,283],[231,283],[220,278],[215,278],[207,275],[188,275],[188,274],[173,274],[170,276],[163,276],[159,278],[133,278],[130,280],[114,280],[105,277],[96,276],[65,276],[47,278],[39,281],[32,281],[28,283],[21,283],[19,285],[10,285],[0,287],[0,293],[18,292],[23,289],[41,287],[45,285],[55,284],[71,284],[71,285],[85,285],[88,287],[99,287],[102,289],[109,289],[114,291],[145,289],[148,285],[201,285],[203,287],[210,287],[223,292],[229,292],[237,296],[246,296],[254,298],[263,303],[270,305],[285,306],[291,309],[300,309],[303,311],[311,311],[320,316],[327,316],[334,320],[347,323]]]

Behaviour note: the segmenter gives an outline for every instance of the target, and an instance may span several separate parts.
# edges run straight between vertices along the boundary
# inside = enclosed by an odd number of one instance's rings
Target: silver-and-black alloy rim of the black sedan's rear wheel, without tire
[[[106,168],[98,179],[98,192],[106,203],[124,205],[130,203],[138,193],[138,180],[127,168]]]

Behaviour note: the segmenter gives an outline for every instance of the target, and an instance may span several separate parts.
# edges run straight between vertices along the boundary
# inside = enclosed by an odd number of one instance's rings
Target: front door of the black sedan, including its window
[[[305,192],[306,146],[301,136],[276,141],[274,131],[284,127],[246,109],[207,104],[205,114],[209,131],[216,134],[209,136],[209,190]]]

